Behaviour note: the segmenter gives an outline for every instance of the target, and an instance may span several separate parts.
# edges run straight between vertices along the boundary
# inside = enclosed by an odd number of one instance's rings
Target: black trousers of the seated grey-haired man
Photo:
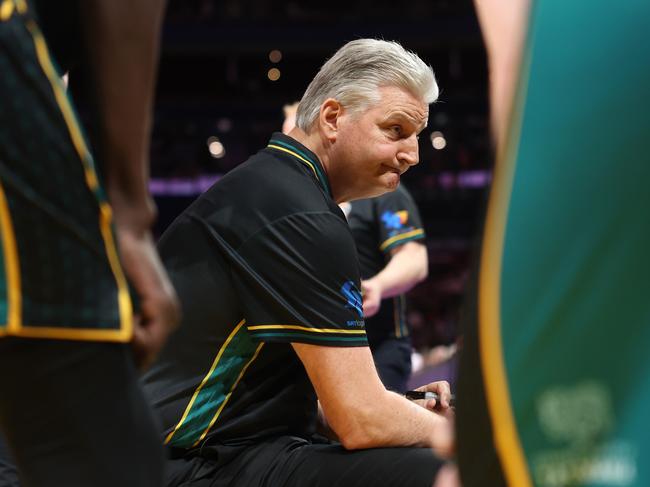
[[[167,487],[431,487],[443,465],[428,448],[348,451],[338,443],[289,436],[174,453]]]

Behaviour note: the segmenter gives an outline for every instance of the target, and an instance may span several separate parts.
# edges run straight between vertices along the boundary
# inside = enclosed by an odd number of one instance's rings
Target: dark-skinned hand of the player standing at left
[[[149,231],[116,225],[122,265],[140,300],[134,316],[133,349],[138,366],[147,368],[180,319],[176,292],[160,262]]]

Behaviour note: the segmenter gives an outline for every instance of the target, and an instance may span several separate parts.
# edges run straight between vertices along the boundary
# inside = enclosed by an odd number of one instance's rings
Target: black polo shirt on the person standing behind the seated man
[[[346,216],[354,236],[362,279],[379,273],[390,260],[394,248],[425,238],[418,208],[402,184],[391,193],[352,201],[349,205]],[[383,299],[379,312],[366,319],[371,347],[387,338],[408,336],[405,315],[403,294]]]

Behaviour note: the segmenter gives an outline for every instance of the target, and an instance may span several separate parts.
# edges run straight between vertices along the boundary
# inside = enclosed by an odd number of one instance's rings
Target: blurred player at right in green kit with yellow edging
[[[465,487],[650,485],[650,3],[476,0],[497,164]]]

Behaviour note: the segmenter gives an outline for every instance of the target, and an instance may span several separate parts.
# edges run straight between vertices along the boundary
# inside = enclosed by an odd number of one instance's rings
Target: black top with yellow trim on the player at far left
[[[0,337],[126,343],[129,289],[95,161],[33,12],[15,7],[6,15],[0,18]]]

